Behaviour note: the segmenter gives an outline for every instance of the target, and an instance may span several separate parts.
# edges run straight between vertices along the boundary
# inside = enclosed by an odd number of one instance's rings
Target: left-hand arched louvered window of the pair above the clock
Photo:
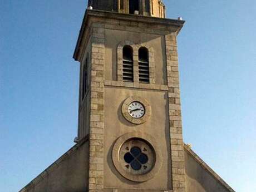
[[[124,46],[122,50],[122,79],[127,82],[134,81],[134,58],[130,46]]]

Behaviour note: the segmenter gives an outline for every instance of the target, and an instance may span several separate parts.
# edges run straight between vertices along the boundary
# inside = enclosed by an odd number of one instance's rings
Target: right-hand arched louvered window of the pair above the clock
[[[149,51],[146,47],[139,49],[139,82],[149,83]]]

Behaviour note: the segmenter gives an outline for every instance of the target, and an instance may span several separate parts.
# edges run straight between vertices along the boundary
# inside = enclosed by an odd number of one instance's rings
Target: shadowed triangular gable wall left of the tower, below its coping
[[[21,192],[80,192],[88,185],[88,142],[79,146],[63,160],[51,165],[36,178],[38,183],[26,186]],[[42,175],[42,174],[41,174]]]

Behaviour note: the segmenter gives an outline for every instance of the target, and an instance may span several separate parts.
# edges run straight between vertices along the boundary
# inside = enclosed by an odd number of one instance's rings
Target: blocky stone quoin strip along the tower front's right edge
[[[185,192],[185,163],[181,121],[180,86],[176,33],[165,36],[169,88],[169,120],[173,191]]]

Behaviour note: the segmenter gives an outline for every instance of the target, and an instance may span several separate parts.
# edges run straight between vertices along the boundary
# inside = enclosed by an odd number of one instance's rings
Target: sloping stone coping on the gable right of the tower
[[[225,188],[227,188],[230,192],[235,192],[223,179],[220,178],[218,174],[215,173],[213,169],[209,167],[193,150],[190,149],[190,147],[186,144],[184,144],[184,150],[188,152],[188,154],[193,157],[203,168],[208,171],[216,180],[219,181],[220,184],[222,184]]]

